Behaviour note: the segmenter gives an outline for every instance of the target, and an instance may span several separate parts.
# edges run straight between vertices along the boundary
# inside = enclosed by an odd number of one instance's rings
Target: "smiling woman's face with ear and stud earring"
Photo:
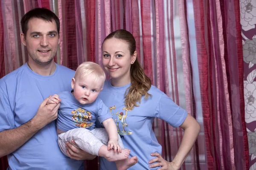
[[[116,38],[105,40],[102,45],[102,64],[112,79],[130,82],[130,68],[137,57],[131,56],[128,43]]]

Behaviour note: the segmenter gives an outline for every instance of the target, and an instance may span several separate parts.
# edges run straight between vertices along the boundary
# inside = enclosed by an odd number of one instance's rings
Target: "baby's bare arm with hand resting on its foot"
[[[116,123],[112,118],[106,119],[102,122],[107,133],[108,133],[108,150],[114,147],[114,151],[118,150],[120,153],[122,152],[121,147],[118,143],[118,133],[116,129]]]

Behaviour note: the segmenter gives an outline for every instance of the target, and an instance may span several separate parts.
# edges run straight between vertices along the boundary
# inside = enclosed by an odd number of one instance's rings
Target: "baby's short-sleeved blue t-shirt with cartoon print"
[[[82,105],[71,91],[64,91],[58,96],[61,106],[58,110],[57,127],[64,132],[79,127],[92,130],[97,119],[100,123],[112,119],[108,107],[99,98],[90,104]]]

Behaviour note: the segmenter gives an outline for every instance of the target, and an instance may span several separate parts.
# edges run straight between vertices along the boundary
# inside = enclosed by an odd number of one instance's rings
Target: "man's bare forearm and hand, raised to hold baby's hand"
[[[38,130],[57,118],[60,103],[46,105],[48,99],[49,97],[41,103],[36,115],[31,120],[17,128],[0,132],[0,157],[17,150]]]

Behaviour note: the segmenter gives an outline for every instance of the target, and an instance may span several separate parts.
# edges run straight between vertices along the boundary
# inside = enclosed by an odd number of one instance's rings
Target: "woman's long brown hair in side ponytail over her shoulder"
[[[136,41],[129,31],[123,29],[116,30],[109,34],[105,40],[111,38],[126,42],[128,44],[130,55],[134,54],[136,50]],[[141,102],[142,96],[144,96],[145,99],[148,99],[148,96],[151,96],[151,94],[148,94],[148,90],[151,88],[151,80],[146,76],[137,57],[135,62],[131,65],[130,75],[131,86],[127,88],[125,93],[125,106],[128,110],[133,110],[134,106],[139,106],[137,102]]]

